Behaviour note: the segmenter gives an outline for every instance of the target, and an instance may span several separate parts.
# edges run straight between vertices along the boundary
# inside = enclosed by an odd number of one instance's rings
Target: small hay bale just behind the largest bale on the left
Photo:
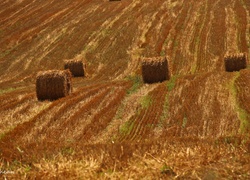
[[[73,76],[85,76],[86,67],[82,60],[66,60],[64,63],[64,69],[69,69]]]

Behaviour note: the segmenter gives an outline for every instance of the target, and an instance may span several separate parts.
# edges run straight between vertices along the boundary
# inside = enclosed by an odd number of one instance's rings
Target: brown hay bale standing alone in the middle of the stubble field
[[[145,83],[162,82],[169,79],[169,68],[166,57],[142,59],[142,77]]]

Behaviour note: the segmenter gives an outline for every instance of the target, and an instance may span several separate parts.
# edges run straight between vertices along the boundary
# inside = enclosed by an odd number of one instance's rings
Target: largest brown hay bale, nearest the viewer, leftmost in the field
[[[71,91],[71,72],[69,70],[38,72],[36,77],[38,100],[55,100],[69,95]]]

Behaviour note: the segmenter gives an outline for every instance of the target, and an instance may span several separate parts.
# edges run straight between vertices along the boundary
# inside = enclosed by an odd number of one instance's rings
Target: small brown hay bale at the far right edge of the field
[[[225,70],[228,72],[239,71],[247,67],[246,53],[226,54],[224,56]]]

